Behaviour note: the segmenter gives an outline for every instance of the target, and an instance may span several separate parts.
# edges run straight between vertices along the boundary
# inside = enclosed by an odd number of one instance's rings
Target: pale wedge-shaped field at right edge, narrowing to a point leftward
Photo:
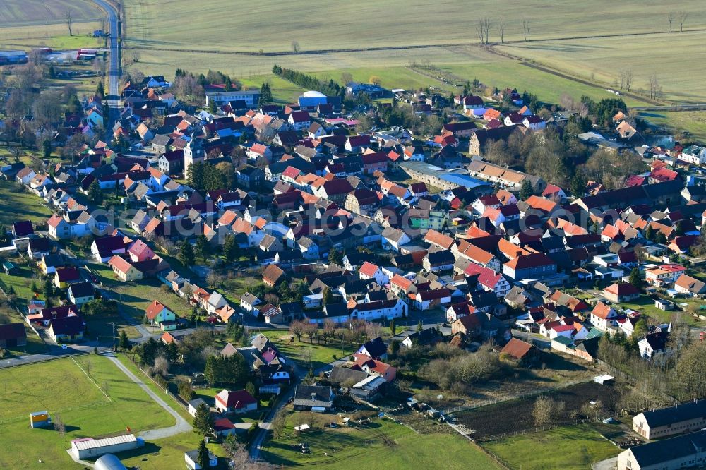
[[[667,25],[666,19],[664,25]],[[699,26],[702,27],[702,24]],[[696,27],[695,23],[693,27]],[[637,91],[649,89],[648,80],[654,73],[662,86],[665,100],[692,103],[703,102],[706,98],[706,83],[700,79],[706,73],[706,51],[701,46],[705,40],[706,32],[685,31],[621,38],[537,41],[496,47],[513,56],[538,61],[611,87],[616,86],[614,82],[623,68],[633,71],[633,89]],[[655,64],[659,67],[655,68]],[[688,68],[684,68],[683,64],[688,64]],[[683,73],[669,72],[675,69]]]

